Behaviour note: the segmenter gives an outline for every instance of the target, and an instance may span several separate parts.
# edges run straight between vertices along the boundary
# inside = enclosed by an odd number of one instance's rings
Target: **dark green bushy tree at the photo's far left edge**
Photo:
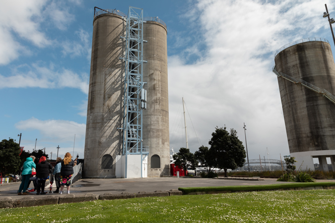
[[[13,139],[3,139],[0,142],[0,172],[15,174],[20,168],[20,147]]]

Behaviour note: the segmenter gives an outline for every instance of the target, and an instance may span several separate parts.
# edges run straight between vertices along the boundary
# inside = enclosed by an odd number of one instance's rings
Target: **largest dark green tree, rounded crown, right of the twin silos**
[[[224,170],[225,177],[227,177],[227,169],[243,167],[246,161],[246,151],[237,137],[236,130],[230,129],[229,133],[226,127],[216,126],[208,144],[215,155],[215,166]]]

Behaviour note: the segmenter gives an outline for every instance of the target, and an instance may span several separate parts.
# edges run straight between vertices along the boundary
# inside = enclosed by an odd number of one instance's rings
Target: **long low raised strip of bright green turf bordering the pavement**
[[[243,185],[243,186],[220,186],[220,187],[180,187],[184,194],[193,192],[218,192],[218,191],[250,191],[250,190],[275,190],[297,187],[317,187],[317,186],[335,186],[335,182],[316,182],[316,183],[283,183],[268,185]]]

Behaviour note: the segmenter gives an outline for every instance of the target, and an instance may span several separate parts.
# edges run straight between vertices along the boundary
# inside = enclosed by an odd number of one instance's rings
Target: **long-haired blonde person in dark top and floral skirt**
[[[66,153],[65,157],[62,161],[62,167],[61,167],[61,191],[60,194],[63,193],[63,188],[66,185],[67,186],[67,193],[70,193],[70,185],[71,185],[71,176],[73,174],[73,166],[74,162],[71,159],[72,156],[70,153]]]

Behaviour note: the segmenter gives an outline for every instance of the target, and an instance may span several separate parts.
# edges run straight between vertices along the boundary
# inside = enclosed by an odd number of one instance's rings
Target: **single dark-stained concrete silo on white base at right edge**
[[[335,170],[335,63],[329,42],[308,38],[288,44],[275,56],[286,133],[297,167],[314,170],[313,158]]]

